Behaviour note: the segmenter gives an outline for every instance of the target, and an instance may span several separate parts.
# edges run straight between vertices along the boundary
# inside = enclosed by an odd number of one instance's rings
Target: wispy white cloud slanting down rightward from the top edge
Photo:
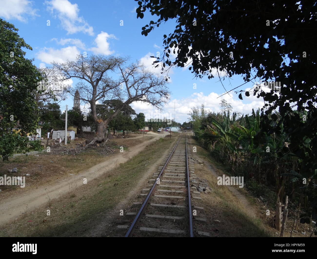
[[[83,32],[94,35],[93,27],[89,26],[83,17],[79,17],[79,8],[76,3],[72,4],[68,0],[52,0],[45,1],[45,3],[48,5],[49,11],[57,12],[57,17],[67,34]]]

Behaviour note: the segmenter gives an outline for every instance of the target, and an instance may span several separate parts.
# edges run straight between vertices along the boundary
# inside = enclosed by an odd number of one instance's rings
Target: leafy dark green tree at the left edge
[[[41,73],[32,60],[26,59],[22,48],[31,46],[17,34],[18,29],[0,19],[0,154],[7,160],[14,152],[39,148],[27,134],[36,134],[38,108],[37,82]],[[19,128],[19,133],[12,131]]]

